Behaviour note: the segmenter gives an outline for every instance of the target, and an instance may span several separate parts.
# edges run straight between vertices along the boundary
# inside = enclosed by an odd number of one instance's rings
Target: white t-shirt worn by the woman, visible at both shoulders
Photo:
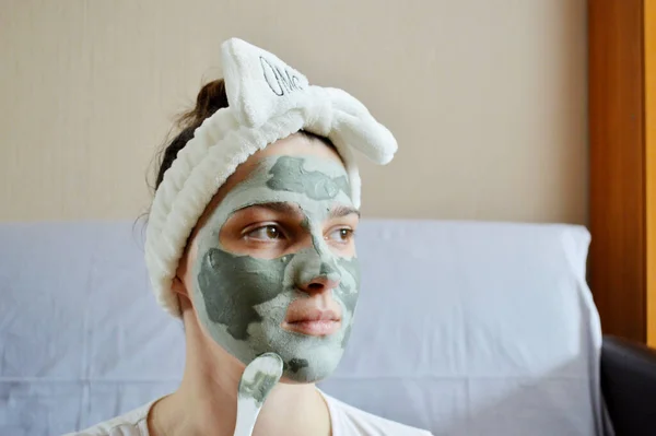
[[[321,394],[330,412],[332,436],[432,436],[430,432],[372,415],[324,392]],[[149,436],[148,414],[153,404],[154,401],[125,415],[65,436]]]

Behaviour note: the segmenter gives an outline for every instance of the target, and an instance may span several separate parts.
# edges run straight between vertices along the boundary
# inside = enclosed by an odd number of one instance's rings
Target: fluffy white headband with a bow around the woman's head
[[[397,151],[394,135],[344,91],[311,85],[274,55],[244,40],[222,45],[229,107],[196,129],[155,192],[145,234],[145,262],[160,305],[179,316],[171,290],[187,238],[216,190],[258,150],[298,130],[328,138],[349,174],[360,207],[353,150],[377,164]]]

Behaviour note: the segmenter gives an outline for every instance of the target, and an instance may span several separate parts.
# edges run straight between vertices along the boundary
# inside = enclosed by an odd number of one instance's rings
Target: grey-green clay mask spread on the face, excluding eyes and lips
[[[225,196],[198,233],[192,298],[199,319],[244,364],[274,352],[286,378],[308,382],[327,377],[339,363],[358,302],[359,263],[333,251],[324,225],[336,207],[353,208],[348,180],[344,168],[330,160],[268,157]],[[312,244],[274,259],[227,251],[219,237],[224,223],[241,209],[265,203],[297,205]],[[341,308],[339,329],[323,337],[283,329],[292,302],[311,298],[302,285],[317,278],[333,283],[323,292]]]

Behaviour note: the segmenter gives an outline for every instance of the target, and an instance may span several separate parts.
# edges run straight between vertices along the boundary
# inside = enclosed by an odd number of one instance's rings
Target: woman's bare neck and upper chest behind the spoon
[[[151,436],[232,436],[244,365],[210,342],[196,317],[187,314],[187,362],[183,381],[177,391],[151,409]],[[316,387],[281,382],[262,405],[253,435],[329,436],[330,432],[330,413]]]

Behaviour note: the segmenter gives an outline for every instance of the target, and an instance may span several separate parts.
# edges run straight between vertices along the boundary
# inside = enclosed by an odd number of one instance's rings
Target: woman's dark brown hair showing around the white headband
[[[225,93],[225,82],[223,79],[214,80],[200,90],[196,97],[196,106],[191,110],[181,114],[177,119],[176,123],[180,132],[163,150],[155,179],[155,190],[162,184],[164,173],[171,168],[179,151],[194,138],[194,131],[202,125],[206,118],[227,106],[227,94]],[[306,130],[301,130],[300,133],[306,138],[317,139],[335,149],[335,145],[328,138],[319,137]]]

